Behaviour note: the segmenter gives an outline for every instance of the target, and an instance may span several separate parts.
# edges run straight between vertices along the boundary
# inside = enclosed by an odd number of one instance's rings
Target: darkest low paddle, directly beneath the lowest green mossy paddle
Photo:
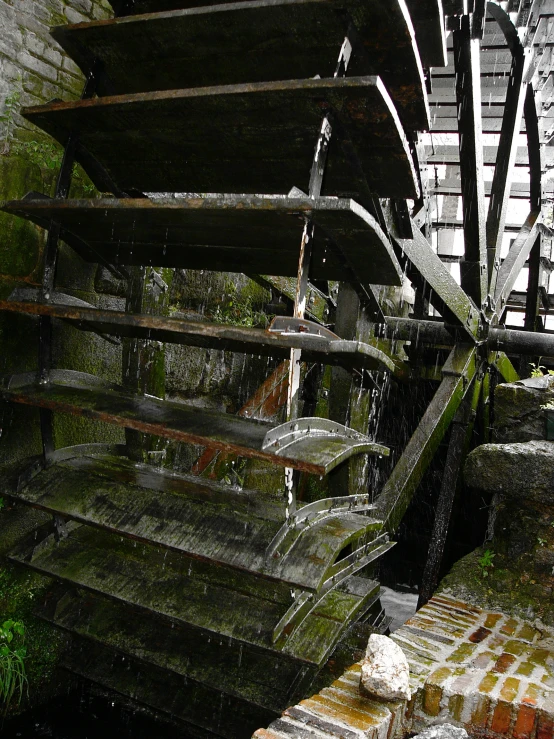
[[[78,594],[65,586],[49,594],[36,614],[142,663],[275,711],[290,704],[291,687],[304,669],[286,655],[206,638],[96,593]]]

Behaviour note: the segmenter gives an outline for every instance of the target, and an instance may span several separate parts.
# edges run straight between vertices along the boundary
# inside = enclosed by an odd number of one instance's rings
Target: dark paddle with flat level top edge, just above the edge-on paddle
[[[84,256],[111,264],[210,269],[296,277],[307,218],[318,228],[310,277],[400,285],[388,238],[356,202],[336,198],[246,195],[205,198],[46,200],[3,204],[4,210],[48,227],[62,226]]]

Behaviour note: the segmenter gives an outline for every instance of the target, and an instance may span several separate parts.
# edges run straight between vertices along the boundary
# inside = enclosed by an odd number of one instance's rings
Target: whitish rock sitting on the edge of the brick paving
[[[410,700],[410,670],[400,647],[388,636],[369,637],[360,678],[362,692],[382,700]]]

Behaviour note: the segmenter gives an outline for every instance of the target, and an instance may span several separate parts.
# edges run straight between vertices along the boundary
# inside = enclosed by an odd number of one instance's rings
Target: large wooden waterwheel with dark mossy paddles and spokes
[[[489,369],[513,379],[507,354],[554,355],[551,337],[534,332],[540,15],[522,33],[503,5],[453,4],[447,57],[440,0],[112,5],[113,20],[53,31],[87,78],[82,99],[24,111],[64,146],[56,196],[3,204],[48,231],[42,285],[0,304],[39,323],[37,367],[2,378],[0,394],[38,409],[42,438],[40,454],[4,465],[2,492],[52,514],[11,556],[60,583],[41,613],[74,637],[68,669],[193,733],[248,736],[310,690],[350,624],[384,628],[378,583],[362,571],[392,546],[452,420],[465,434],[467,407],[486,409]],[[480,59],[490,67],[490,50],[501,60],[485,79],[499,89],[487,91]],[[510,181],[522,116],[528,191]],[[492,152],[483,130],[499,133]],[[429,161],[459,168],[459,179],[429,182],[418,139],[426,131],[458,135],[458,147],[439,146]],[[68,197],[75,161],[101,197]],[[522,192],[530,214],[514,226],[510,198]],[[463,203],[460,284],[440,241],[438,253],[433,246],[434,233],[458,225],[433,211],[444,195]],[[60,241],[127,281],[125,311],[56,289]],[[527,330],[508,330],[528,259]],[[296,279],[292,315],[269,330],[153,315],[144,299],[152,268],[244,272],[277,292]],[[417,317],[386,317],[386,290],[406,279]],[[331,327],[313,320],[309,302],[332,315],[329,282],[344,286]],[[121,384],[56,365],[60,322],[131,342]],[[256,418],[254,403],[231,415],[154,397],[129,371],[131,353],[153,341],[284,359],[284,422]],[[352,373],[409,380],[416,370],[393,351],[406,342],[438,347],[437,357],[446,347],[448,358],[392,474],[370,490],[344,471],[389,449],[368,435],[367,417],[352,428],[340,387]],[[327,418],[302,413],[301,362],[336,368]],[[60,448],[58,414],[124,428],[126,444]],[[237,491],[154,468],[137,456],[137,434],[269,462],[284,481],[269,493]],[[452,475],[459,440],[453,433]],[[328,496],[297,495],[294,470],[330,474]]]

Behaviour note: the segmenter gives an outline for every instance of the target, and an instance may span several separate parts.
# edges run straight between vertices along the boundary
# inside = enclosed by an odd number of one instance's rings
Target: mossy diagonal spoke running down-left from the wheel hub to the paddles
[[[394,531],[476,372],[474,347],[458,346],[443,368],[443,380],[417,429],[375,501],[375,515]]]

